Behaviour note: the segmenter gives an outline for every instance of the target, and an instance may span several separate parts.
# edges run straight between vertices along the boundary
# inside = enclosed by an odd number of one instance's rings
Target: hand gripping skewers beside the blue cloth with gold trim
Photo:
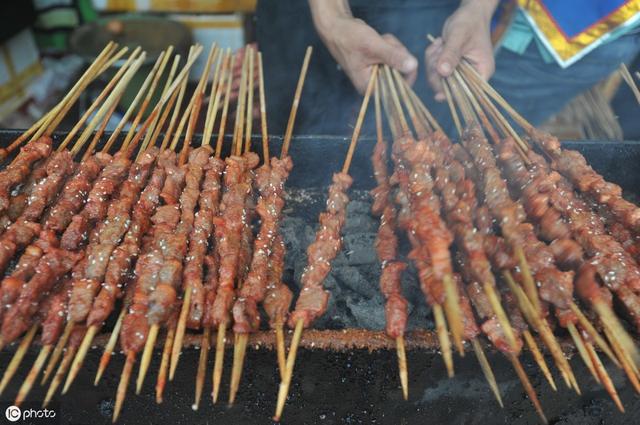
[[[493,74],[490,25],[496,6],[497,0],[463,0],[445,22],[442,37],[426,49],[427,80],[436,92],[436,100],[445,99],[442,78],[450,76],[462,58],[471,62],[485,80]]]

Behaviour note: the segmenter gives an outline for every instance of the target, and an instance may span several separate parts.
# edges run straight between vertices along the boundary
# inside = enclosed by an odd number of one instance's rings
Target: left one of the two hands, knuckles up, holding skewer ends
[[[413,84],[418,60],[393,35],[380,35],[363,20],[350,15],[315,16],[320,38],[345,71],[355,88],[364,93],[373,65],[386,64],[397,69]]]

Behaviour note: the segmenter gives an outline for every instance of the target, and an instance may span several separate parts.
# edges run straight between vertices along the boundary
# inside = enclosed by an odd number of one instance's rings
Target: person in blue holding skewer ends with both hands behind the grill
[[[575,8],[561,0],[261,0],[257,39],[272,128],[284,129],[277,116],[288,105],[275,94],[293,90],[295,81],[282,76],[308,44],[315,54],[299,133],[347,134],[343,117],[355,117],[358,92],[372,65],[382,63],[401,72],[453,134],[440,78],[462,58],[532,124],[542,124],[640,49],[638,0],[585,0],[580,13]]]

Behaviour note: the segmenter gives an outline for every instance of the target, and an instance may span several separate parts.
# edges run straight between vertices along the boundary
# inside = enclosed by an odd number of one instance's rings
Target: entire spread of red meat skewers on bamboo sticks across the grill
[[[203,393],[214,338],[212,399],[217,401],[225,340],[233,332],[233,403],[249,335],[261,328],[261,307],[276,335],[282,382],[274,418],[279,420],[303,331],[325,312],[331,295],[323,282],[341,249],[352,184],[348,172],[372,97],[377,123],[372,213],[380,217],[380,289],[405,399],[407,300],[401,281],[408,263],[433,311],[449,376],[454,374],[454,347],[462,356],[468,343],[500,405],[481,334],[513,365],[543,421],[542,406],[519,360],[524,344],[554,390],[538,341],[551,354],[565,385],[580,392],[554,327],[567,330],[580,358],[620,410],[624,408],[598,352],[621,367],[640,392],[640,353],[612,307],[614,299],[619,301],[640,328],[640,249],[635,241],[640,210],[577,152],[561,149],[555,138],[527,123],[469,64],[463,63],[443,82],[460,134],[457,144],[399,74],[373,68],[290,312],[294,295],[282,281],[285,248],[279,221],[311,50],[302,64],[279,158],[269,151],[260,53],[247,49],[239,58],[212,46],[196,89],[183,105],[187,75],[202,50],[194,46],[179,71],[181,58],[171,61],[172,49],[164,51],[116,130],[99,145],[144,61],[145,53],[134,50],[54,149],[50,136],[80,93],[127,53],[109,44],[60,104],[1,152],[7,157],[20,148],[0,171],[0,268],[6,276],[0,285],[0,345],[17,344],[0,393],[39,331],[40,352],[15,404],[25,400],[41,372],[43,384],[51,380],[45,405],[58,389],[67,392],[94,339],[113,316],[117,319],[95,382],[119,343],[126,362],[114,421],[136,360],[139,393],[153,348],[164,337],[156,383],[156,400],[162,402],[167,380],[178,370],[187,329],[202,332],[194,409]],[[241,73],[234,81],[237,61]],[[160,88],[165,70],[167,82]],[[260,166],[259,156],[250,151],[255,80],[264,160]],[[222,159],[234,83],[238,93],[231,153]],[[151,105],[156,91],[160,100]],[[192,147],[207,94],[202,145]],[[383,110],[393,135],[391,146],[384,139]],[[527,136],[519,136],[501,111]],[[131,129],[110,153],[129,120]],[[98,146],[102,148],[96,153]],[[75,163],[75,157],[81,161]],[[411,249],[403,253],[404,239]],[[285,326],[293,329],[288,352]]]

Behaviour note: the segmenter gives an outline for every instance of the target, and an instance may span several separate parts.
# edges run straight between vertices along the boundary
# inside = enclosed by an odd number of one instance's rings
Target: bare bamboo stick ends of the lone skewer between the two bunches
[[[307,52],[309,52],[309,50],[307,50]],[[360,137],[360,130],[362,128],[364,116],[367,111],[367,106],[369,104],[369,98],[371,97],[371,92],[373,91],[373,87],[376,82],[377,73],[378,73],[378,66],[375,65],[373,67],[373,70],[371,71],[371,77],[369,78],[367,90],[364,94],[364,99],[362,100],[360,112],[358,113],[358,118],[356,119],[356,125],[353,129],[353,135],[351,137],[351,143],[349,144],[349,150],[347,151],[347,156],[344,160],[344,165],[342,166],[342,172],[345,174],[349,173],[349,167],[351,166],[353,153],[355,151],[358,138]],[[302,337],[303,325],[304,323],[302,320],[297,321],[295,330],[293,333],[293,338],[291,339],[291,346],[289,348],[289,355],[287,356],[287,363],[284,371],[284,379],[280,383],[280,388],[278,390],[278,400],[276,404],[276,413],[274,416],[275,421],[280,420],[280,417],[282,416],[282,410],[284,409],[284,403],[289,393],[289,386],[291,385],[291,377],[293,374],[293,368],[295,366],[296,354],[298,352],[298,346],[300,345],[300,338]]]

